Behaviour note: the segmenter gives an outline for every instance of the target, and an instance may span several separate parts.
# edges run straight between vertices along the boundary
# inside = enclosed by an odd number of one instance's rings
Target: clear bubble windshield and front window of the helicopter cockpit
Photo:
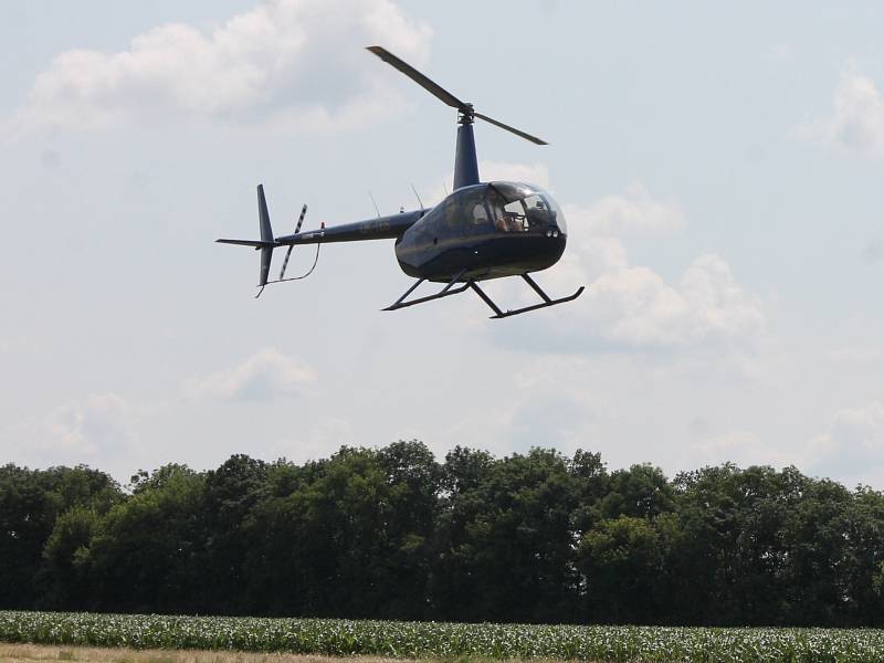
[[[499,232],[567,234],[565,214],[555,200],[533,185],[492,182],[487,190],[488,210]]]

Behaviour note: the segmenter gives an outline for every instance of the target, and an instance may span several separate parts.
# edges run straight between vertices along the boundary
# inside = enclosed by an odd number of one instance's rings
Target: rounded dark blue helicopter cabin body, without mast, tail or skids
[[[541,189],[488,182],[449,194],[396,242],[409,276],[483,281],[538,272],[561,257],[565,217]]]

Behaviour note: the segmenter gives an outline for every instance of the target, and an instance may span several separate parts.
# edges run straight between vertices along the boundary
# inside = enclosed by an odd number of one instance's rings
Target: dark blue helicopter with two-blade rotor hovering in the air
[[[399,266],[407,275],[417,278],[401,297],[383,311],[398,311],[472,290],[494,312],[492,318],[506,318],[565,304],[579,297],[583,286],[570,296],[552,299],[529,276],[533,272],[551,267],[565,252],[568,239],[565,214],[552,197],[539,187],[511,181],[481,182],[473,123],[476,118],[482,119],[536,145],[547,143],[477,113],[472,104],[462,102],[388,50],[368,46],[368,51],[444,104],[456,108],[459,126],[452,192],[430,209],[424,209],[421,203],[419,210],[400,210],[399,213],[387,217],[378,214],[376,219],[332,228],[326,228],[323,223],[318,230],[309,232],[301,231],[307,211],[307,206],[304,206],[294,233],[274,236],[264,187],[259,185],[261,239],[217,240],[223,244],[253,246],[261,252],[261,290],[256,297],[261,296],[266,285],[308,276],[316,267],[322,244],[365,240],[396,240],[394,251]],[[418,200],[420,202],[420,197]],[[303,244],[316,244],[313,266],[304,275],[286,278],[285,271],[292,250]],[[273,251],[282,246],[288,248],[282,271],[278,278],[270,281]],[[540,303],[503,311],[478,285],[481,281],[508,276],[522,277],[540,297]],[[435,294],[409,299],[428,281],[442,283],[444,286]]]

